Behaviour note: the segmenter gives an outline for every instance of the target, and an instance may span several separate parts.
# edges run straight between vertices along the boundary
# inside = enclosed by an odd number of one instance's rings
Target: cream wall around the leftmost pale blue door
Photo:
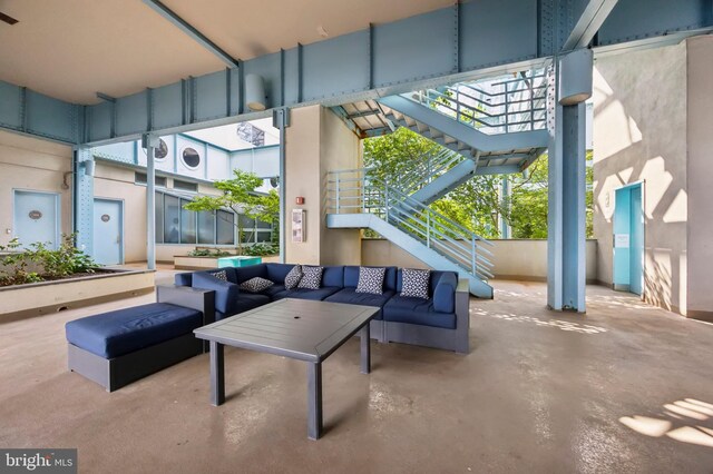
[[[71,233],[71,191],[62,189],[64,174],[71,171],[71,155],[66,145],[0,130],[0,245],[12,238],[14,189],[60,195],[61,231]],[[71,176],[67,182],[71,187]]]

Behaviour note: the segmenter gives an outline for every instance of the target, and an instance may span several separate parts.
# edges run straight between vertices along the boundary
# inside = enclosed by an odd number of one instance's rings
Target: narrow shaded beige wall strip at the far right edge
[[[713,37],[687,41],[687,313],[713,320]]]

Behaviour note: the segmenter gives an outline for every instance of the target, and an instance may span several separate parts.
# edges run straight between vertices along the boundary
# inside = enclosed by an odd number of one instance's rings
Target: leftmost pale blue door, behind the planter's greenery
[[[51,249],[59,245],[59,195],[14,191],[13,236],[23,248],[41,241]]]

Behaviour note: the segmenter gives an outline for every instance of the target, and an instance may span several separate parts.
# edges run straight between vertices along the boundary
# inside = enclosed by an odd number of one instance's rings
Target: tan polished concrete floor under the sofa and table
[[[221,407],[207,355],[113,394],[67,372],[66,322],[152,295],[0,319],[0,447],[78,447],[85,473],[713,472],[712,325],[597,286],[586,316],[495,286],[468,356],[374,343],[362,375],[358,339],[334,353],[318,442],[295,361],[226,349]]]

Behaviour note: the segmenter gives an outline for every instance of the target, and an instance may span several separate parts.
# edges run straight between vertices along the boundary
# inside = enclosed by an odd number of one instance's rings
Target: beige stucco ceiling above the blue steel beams
[[[431,11],[453,0],[165,0],[234,58]],[[141,0],[0,0],[0,80],[79,103],[125,96],[225,65]]]

